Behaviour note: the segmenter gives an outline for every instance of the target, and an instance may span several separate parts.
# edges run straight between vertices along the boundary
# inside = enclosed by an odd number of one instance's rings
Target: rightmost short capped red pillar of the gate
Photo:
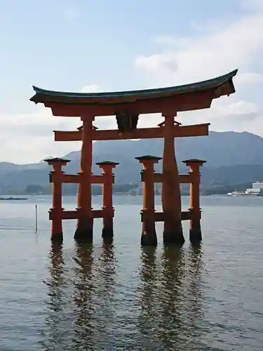
[[[206,161],[201,159],[187,159],[183,161],[184,164],[189,166],[189,174],[191,175],[190,183],[190,208],[191,220],[189,225],[189,236],[192,243],[202,240],[201,233],[201,208],[200,208],[200,167]]]

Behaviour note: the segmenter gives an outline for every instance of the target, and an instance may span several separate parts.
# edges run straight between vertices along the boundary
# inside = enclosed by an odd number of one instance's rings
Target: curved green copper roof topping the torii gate
[[[232,79],[236,76],[237,69],[223,76],[208,79],[206,81],[198,81],[197,83],[184,84],[181,86],[170,86],[168,88],[155,88],[155,89],[144,89],[135,91],[115,91],[108,93],[68,93],[62,91],[49,91],[45,89],[33,86],[35,95],[30,99],[34,102],[54,102],[54,103],[76,103],[76,99],[81,103],[81,99],[93,100],[93,102],[103,102],[103,100],[110,100],[111,98],[126,100],[126,98],[154,98],[154,95],[179,95],[184,93],[193,93],[195,91],[205,91],[210,88],[218,88],[224,84],[230,84],[231,89],[229,93],[234,93],[234,84]],[[74,101],[73,101],[74,100]],[[91,102],[92,103],[92,102]]]

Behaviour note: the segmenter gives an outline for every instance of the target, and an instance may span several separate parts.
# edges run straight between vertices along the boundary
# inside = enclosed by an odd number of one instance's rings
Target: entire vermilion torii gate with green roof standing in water
[[[155,222],[163,221],[163,241],[165,243],[184,243],[182,220],[190,220],[191,241],[201,240],[201,209],[199,204],[199,166],[205,161],[191,159],[185,161],[190,167],[188,175],[179,175],[175,157],[175,138],[208,135],[207,124],[182,126],[175,121],[177,112],[209,108],[213,99],[235,92],[233,77],[237,70],[224,76],[183,86],[147,89],[140,91],[121,91],[109,93],[64,93],[47,91],[33,86],[35,95],[30,99],[49,107],[53,116],[80,117],[82,126],[76,131],[54,131],[56,141],[82,141],[80,172],[66,175],[62,166],[69,160],[50,159],[53,172],[53,207],[50,219],[53,222],[52,239],[62,239],[62,219],[77,219],[75,239],[93,239],[93,219],[103,218],[102,236],[113,236],[114,208],[112,206],[112,170],[114,162],[102,162],[101,176],[91,172],[93,140],[123,140],[142,138],[163,138],[163,173],[154,173],[154,163],[159,158],[138,157],[144,165],[144,206],[142,208],[142,244],[156,244]],[[137,128],[140,114],[161,113],[164,121],[156,128]],[[93,126],[97,116],[116,116],[116,130],[98,130]],[[194,150],[193,150],[194,151]],[[154,208],[154,183],[162,183],[163,212]],[[76,211],[62,208],[62,183],[79,184]],[[103,186],[102,210],[94,210],[91,205],[91,184]],[[190,183],[190,208],[182,212],[180,183]]]

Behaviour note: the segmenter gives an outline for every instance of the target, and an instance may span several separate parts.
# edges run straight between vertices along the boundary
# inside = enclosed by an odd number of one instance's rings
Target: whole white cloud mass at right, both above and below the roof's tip
[[[178,114],[183,123],[211,121],[214,130],[248,128],[257,133],[263,106],[253,93],[263,89],[263,0],[246,0],[243,6],[245,14],[236,20],[199,24],[192,37],[156,37],[155,52],[135,58],[147,87],[189,84],[238,68],[236,94],[214,100],[210,109]]]

